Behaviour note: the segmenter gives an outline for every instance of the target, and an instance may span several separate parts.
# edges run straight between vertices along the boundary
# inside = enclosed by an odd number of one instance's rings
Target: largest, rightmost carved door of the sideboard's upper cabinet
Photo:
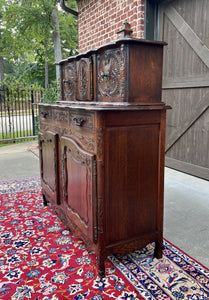
[[[97,56],[97,97],[99,101],[122,101],[127,95],[127,49],[121,46]]]

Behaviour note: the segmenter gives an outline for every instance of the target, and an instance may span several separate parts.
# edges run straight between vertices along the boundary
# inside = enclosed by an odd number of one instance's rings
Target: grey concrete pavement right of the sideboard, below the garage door
[[[164,237],[209,268],[209,181],[165,169]]]

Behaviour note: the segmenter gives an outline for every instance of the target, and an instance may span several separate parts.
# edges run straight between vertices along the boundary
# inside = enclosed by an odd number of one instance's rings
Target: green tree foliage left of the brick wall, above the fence
[[[49,65],[49,82],[55,81],[52,11],[56,0],[0,0],[0,56],[4,58],[6,80],[16,78],[26,84],[44,87],[45,61]],[[68,6],[77,9],[76,0]],[[59,10],[63,58],[78,49],[77,19]],[[47,57],[45,57],[47,52]]]

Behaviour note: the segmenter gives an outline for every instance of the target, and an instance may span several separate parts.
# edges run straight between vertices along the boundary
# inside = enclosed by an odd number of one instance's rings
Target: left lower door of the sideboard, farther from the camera
[[[59,204],[58,135],[50,131],[39,133],[39,149],[43,195],[47,201]]]

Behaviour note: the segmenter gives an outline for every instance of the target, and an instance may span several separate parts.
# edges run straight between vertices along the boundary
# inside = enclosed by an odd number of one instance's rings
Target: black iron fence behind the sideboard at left
[[[0,143],[37,137],[39,102],[40,90],[0,88]]]

